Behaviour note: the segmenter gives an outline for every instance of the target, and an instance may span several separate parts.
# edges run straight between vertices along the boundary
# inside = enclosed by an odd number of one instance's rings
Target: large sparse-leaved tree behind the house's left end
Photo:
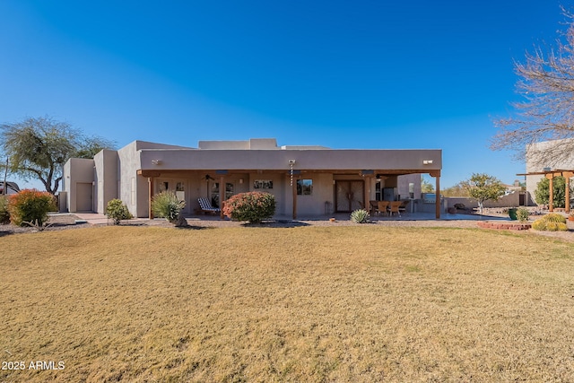
[[[85,136],[78,129],[52,118],[26,118],[0,126],[0,149],[9,159],[8,170],[24,179],[39,179],[54,195],[62,180],[65,161],[72,157],[93,158],[114,144],[98,136]]]

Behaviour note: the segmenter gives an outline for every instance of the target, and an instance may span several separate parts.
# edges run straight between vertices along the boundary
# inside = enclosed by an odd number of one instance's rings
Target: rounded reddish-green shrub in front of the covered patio
[[[257,223],[273,217],[275,205],[275,197],[272,194],[239,193],[225,201],[223,213],[232,220]]]

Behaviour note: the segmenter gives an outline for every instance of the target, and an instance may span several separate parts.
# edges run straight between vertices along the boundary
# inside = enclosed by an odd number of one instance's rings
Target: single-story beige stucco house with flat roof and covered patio
[[[222,205],[248,191],[272,193],[277,216],[351,212],[370,200],[420,198],[421,174],[439,177],[441,150],[359,150],[278,146],[274,138],[200,141],[198,147],[134,141],[64,167],[69,212],[105,213],[123,200],[135,217],[149,217],[152,196],[173,190],[198,213],[197,198]],[[436,207],[439,217],[439,205]]]

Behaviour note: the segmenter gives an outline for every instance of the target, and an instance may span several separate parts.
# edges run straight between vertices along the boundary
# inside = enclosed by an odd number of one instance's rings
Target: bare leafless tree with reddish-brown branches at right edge
[[[556,48],[535,48],[524,63],[516,63],[520,77],[513,103],[517,115],[495,121],[499,133],[491,149],[514,150],[524,158],[526,147],[541,141],[562,140],[552,151],[535,151],[536,163],[555,165],[574,152],[574,17],[562,8],[568,27],[556,39]],[[529,157],[532,153],[529,152]]]

